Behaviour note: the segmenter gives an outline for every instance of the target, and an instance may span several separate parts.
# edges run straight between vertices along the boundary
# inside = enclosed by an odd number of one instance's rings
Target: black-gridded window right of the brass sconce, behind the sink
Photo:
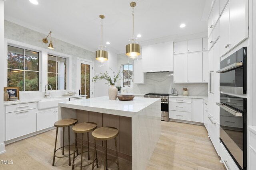
[[[48,84],[52,90],[66,90],[65,58],[48,55]]]

